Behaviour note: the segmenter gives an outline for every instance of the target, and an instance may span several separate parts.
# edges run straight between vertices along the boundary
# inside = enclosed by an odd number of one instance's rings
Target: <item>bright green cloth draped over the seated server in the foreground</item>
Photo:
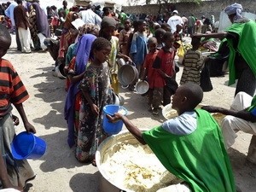
[[[210,113],[196,109],[197,129],[173,135],[161,126],[143,132],[143,139],[169,172],[195,192],[235,192],[229,156],[218,123]]]

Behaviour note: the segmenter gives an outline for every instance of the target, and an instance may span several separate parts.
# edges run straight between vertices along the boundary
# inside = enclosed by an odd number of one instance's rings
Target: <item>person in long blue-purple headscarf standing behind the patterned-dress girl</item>
[[[90,59],[90,47],[97,36],[97,29],[94,25],[85,24],[79,29],[79,41],[72,44],[68,50],[73,58],[66,67],[68,85],[67,97],[65,102],[65,119],[67,120],[69,147],[73,147],[78,138],[79,132],[79,109],[81,103],[81,91],[78,89],[79,82],[84,77],[84,72]],[[78,147],[79,148],[79,147]],[[76,151],[80,151],[79,149]],[[78,158],[79,155],[76,154]]]

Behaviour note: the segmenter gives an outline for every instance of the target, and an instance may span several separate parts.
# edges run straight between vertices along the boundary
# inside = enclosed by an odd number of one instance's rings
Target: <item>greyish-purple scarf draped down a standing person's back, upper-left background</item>
[[[45,38],[49,38],[49,23],[44,9],[42,9],[38,3],[32,3],[32,6],[36,10],[38,32],[41,32]]]

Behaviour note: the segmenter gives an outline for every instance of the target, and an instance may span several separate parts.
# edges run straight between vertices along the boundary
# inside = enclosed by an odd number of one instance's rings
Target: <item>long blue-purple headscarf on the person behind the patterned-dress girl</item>
[[[81,38],[79,38],[78,46],[76,49],[75,75],[84,73],[86,69],[86,65],[90,58],[90,48],[95,39],[96,39],[96,36],[92,34],[84,34]],[[66,97],[65,108],[64,108],[64,115],[65,115],[65,119],[67,120],[67,127],[68,127],[67,143],[70,148],[72,148],[75,143],[74,133],[73,133],[73,125],[74,125],[73,110],[74,110],[75,97],[79,92],[79,88],[78,88],[79,83],[80,82],[70,84],[69,89],[67,90],[67,97]]]

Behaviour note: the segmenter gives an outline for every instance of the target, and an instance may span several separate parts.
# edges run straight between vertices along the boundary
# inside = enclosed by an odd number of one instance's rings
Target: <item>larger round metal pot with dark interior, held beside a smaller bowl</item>
[[[139,73],[135,66],[135,63],[130,62],[119,68],[118,79],[119,83],[127,86],[129,84],[135,84],[137,82]]]

